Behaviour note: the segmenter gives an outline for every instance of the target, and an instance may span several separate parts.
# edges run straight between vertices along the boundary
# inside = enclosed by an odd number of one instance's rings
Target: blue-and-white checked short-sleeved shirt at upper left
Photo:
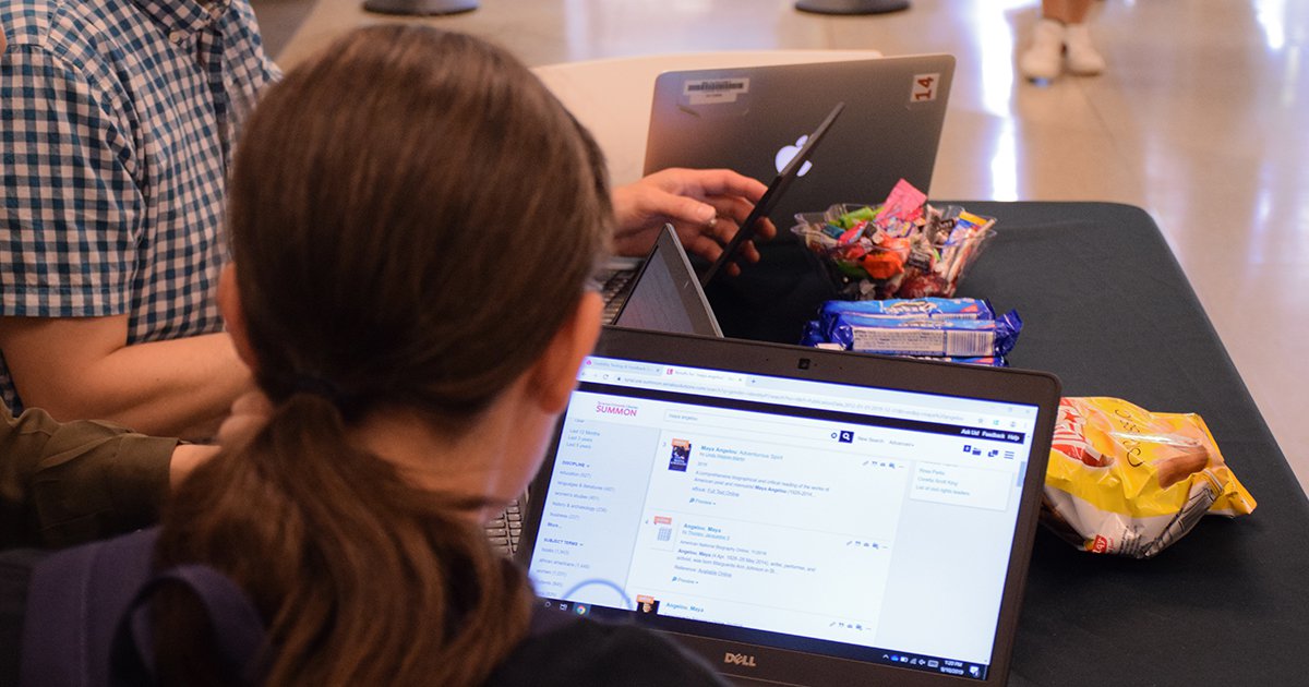
[[[228,156],[280,76],[247,0],[3,0],[0,29],[0,314],[220,331]]]

